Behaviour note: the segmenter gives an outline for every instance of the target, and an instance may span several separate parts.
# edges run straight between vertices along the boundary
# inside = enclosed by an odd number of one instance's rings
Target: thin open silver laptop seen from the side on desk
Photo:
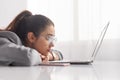
[[[67,63],[69,64],[90,64],[93,63],[93,61],[95,60],[95,57],[98,53],[98,50],[100,49],[100,46],[103,42],[104,36],[106,34],[106,31],[108,29],[110,22],[108,22],[105,27],[103,28],[103,30],[100,33],[100,36],[95,44],[95,48],[89,58],[89,60],[77,60],[77,61],[70,61],[70,60],[60,60],[60,61],[49,61],[49,64],[53,64],[53,65],[66,65]]]

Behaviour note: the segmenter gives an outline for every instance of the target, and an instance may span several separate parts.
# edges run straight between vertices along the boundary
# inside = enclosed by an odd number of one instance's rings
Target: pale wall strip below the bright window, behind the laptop
[[[62,42],[56,44],[56,49],[60,50],[65,59],[79,60],[89,58],[93,52],[96,42]],[[96,60],[120,60],[120,40],[105,39],[96,55]]]

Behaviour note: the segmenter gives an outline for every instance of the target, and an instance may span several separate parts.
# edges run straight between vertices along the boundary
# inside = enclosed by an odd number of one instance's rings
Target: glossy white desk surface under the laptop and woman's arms
[[[92,65],[2,67],[0,80],[119,80],[120,62]]]

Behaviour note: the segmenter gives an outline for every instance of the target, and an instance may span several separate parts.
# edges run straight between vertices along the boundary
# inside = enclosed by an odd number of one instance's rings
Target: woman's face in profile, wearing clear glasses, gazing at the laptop
[[[42,55],[47,55],[51,48],[54,47],[53,40],[55,30],[53,26],[48,26],[32,43],[32,47]]]

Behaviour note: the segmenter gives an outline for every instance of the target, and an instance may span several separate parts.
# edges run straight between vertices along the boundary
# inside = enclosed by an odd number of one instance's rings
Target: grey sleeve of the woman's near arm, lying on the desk
[[[7,39],[0,45],[0,65],[32,66],[41,62],[40,53],[35,49],[17,45]]]

